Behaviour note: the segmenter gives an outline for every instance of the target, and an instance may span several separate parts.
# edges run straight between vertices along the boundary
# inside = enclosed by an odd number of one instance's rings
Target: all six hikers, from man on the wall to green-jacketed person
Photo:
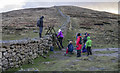
[[[40,19],[37,21],[40,38],[42,37],[43,18],[44,16],[41,16]],[[58,41],[60,42],[61,47],[64,48],[62,45],[63,33],[61,29],[58,30],[57,38]],[[77,50],[77,57],[81,57],[81,53],[85,53],[85,52],[87,52],[87,56],[92,55],[91,45],[92,45],[92,40],[90,40],[90,35],[87,32],[84,34],[84,38],[82,38],[80,33],[77,33],[76,47],[75,47],[75,49]],[[70,40],[65,55],[67,55],[68,53],[73,54],[73,50],[74,50],[74,46],[72,44],[72,40]]]

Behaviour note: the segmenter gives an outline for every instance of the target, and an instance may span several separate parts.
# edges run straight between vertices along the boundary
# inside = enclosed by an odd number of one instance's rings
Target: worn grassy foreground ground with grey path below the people
[[[109,50],[109,51],[108,51]],[[93,49],[92,56],[77,58],[76,52],[73,55],[64,56],[65,49],[54,51],[49,56],[52,61],[39,62],[34,67],[21,69],[19,71],[109,71],[118,70],[118,48]],[[99,52],[98,52],[99,51]],[[110,53],[111,52],[111,53]],[[113,53],[117,55],[113,55]],[[101,55],[102,53],[102,55]]]

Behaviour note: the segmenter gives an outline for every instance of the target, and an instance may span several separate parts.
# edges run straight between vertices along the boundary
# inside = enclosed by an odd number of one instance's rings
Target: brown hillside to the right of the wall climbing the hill
[[[118,15],[90,9],[61,6],[71,18],[71,32],[90,33],[94,47],[118,46]],[[75,37],[70,37],[75,38]],[[75,39],[74,39],[75,40]]]

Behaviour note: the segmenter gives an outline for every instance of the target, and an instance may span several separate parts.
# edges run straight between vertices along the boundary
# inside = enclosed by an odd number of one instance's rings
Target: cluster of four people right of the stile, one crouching
[[[90,40],[90,35],[87,32],[84,34],[83,39],[81,34],[77,33],[76,47],[75,47],[75,49],[77,50],[77,57],[81,57],[81,53],[87,53],[87,56],[92,55],[91,46],[92,46],[92,40]],[[72,41],[70,40],[65,55],[68,53],[72,54],[73,50],[74,50],[74,46],[72,44]]]

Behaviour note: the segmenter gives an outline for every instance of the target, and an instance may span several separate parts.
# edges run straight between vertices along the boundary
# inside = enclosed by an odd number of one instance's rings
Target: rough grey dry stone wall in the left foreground
[[[22,64],[48,53],[52,45],[52,35],[41,39],[29,39],[19,42],[2,43],[0,49],[0,67],[2,70],[18,68]]]

